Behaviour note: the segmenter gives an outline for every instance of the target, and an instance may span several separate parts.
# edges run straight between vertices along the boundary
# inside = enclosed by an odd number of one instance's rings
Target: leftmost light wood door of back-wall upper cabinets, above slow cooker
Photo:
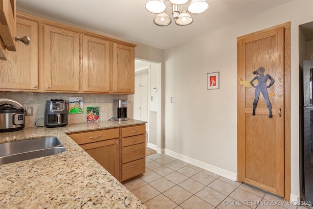
[[[0,90],[38,89],[38,23],[17,18],[17,36],[28,36],[30,44],[16,43],[16,52],[8,51],[0,61]]]

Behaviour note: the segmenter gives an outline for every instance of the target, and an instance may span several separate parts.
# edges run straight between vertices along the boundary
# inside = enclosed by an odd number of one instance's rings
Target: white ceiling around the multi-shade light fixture
[[[294,0],[206,0],[209,9],[178,26],[153,23],[148,0],[16,0],[17,7],[160,49],[179,45]],[[171,11],[167,10],[170,17]]]

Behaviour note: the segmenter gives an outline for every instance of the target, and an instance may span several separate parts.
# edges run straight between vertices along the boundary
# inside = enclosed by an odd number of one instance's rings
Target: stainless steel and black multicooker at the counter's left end
[[[0,100],[0,132],[19,131],[25,127],[24,107],[16,104],[20,103],[15,103],[14,100]]]

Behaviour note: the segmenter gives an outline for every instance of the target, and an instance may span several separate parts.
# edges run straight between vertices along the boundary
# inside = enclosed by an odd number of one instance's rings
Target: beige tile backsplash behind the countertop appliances
[[[33,115],[25,116],[25,127],[44,125],[45,102],[49,99],[63,99],[67,102],[68,97],[84,97],[84,113],[69,114],[68,123],[86,122],[87,106],[99,106],[99,119],[109,120],[113,117],[113,99],[128,99],[125,94],[87,94],[87,93],[28,93],[28,92],[2,92],[0,98],[14,99],[24,107],[33,107]],[[128,104],[129,106],[129,104]]]

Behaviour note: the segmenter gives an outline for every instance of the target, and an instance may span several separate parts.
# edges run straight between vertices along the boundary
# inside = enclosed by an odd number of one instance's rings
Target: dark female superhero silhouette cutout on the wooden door
[[[253,74],[257,75],[250,81],[250,84],[255,88],[252,115],[255,116],[255,109],[256,109],[256,106],[258,104],[260,93],[262,93],[264,100],[268,106],[268,111],[269,111],[268,117],[272,118],[273,117],[272,116],[272,109],[271,109],[271,104],[269,102],[267,89],[269,87],[271,87],[271,85],[273,85],[274,79],[268,74],[264,75],[264,71],[265,71],[264,67],[260,67],[257,70],[252,72]],[[269,85],[266,84],[268,79],[270,80]],[[256,85],[253,84],[253,81],[255,81],[255,80],[258,81],[258,83]]]

